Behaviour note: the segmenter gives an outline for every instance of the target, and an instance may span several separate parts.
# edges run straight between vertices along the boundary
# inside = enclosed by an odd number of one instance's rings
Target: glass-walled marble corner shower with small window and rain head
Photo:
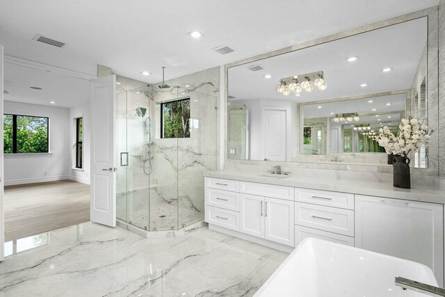
[[[216,97],[179,86],[118,93],[117,217],[149,231],[204,219],[216,169]]]

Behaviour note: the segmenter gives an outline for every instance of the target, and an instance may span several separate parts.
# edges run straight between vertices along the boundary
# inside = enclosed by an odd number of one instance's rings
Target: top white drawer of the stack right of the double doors
[[[328,207],[354,209],[354,194],[295,188],[295,200]]]

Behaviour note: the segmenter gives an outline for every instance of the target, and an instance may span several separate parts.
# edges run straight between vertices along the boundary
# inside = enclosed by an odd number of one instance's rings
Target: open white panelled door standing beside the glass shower
[[[115,75],[91,81],[90,220],[116,225]]]

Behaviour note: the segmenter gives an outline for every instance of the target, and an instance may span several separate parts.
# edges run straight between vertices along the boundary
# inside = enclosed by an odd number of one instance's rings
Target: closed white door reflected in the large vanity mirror
[[[263,107],[261,114],[261,158],[286,161],[287,111],[276,107]]]

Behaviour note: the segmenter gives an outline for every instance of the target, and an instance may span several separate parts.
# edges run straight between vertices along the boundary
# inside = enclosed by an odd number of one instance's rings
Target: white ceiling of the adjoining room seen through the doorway
[[[90,81],[12,63],[5,63],[4,89],[5,100],[30,104],[69,108],[90,100]]]

